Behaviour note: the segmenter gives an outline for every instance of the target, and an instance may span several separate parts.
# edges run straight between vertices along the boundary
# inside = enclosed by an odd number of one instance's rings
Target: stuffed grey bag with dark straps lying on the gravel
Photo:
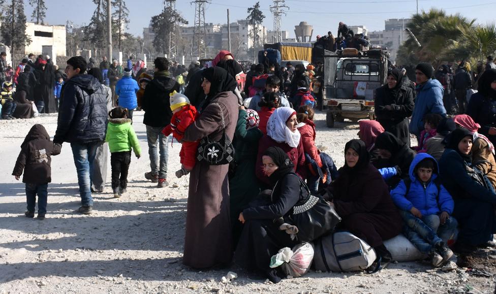
[[[377,255],[370,245],[350,232],[336,232],[314,242],[314,266],[317,271],[354,272],[365,270]]]

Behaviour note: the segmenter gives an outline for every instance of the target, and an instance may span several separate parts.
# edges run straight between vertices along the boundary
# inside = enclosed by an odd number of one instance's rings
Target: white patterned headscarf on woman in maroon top
[[[296,130],[293,133],[286,125],[286,121],[293,114],[296,114],[296,112],[291,107],[276,108],[267,122],[267,135],[277,143],[284,142],[296,148],[300,144],[300,132]]]

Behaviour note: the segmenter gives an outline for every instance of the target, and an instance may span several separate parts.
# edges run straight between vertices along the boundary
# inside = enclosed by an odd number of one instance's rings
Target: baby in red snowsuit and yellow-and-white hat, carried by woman
[[[178,141],[182,140],[184,131],[192,124],[198,113],[193,105],[190,105],[190,100],[187,96],[174,91],[170,93],[170,105],[172,110],[171,123],[164,127],[162,134],[172,136]],[[198,149],[197,142],[183,142],[179,157],[181,157],[181,169],[176,172],[176,177],[180,178],[189,174],[195,167],[196,151]]]

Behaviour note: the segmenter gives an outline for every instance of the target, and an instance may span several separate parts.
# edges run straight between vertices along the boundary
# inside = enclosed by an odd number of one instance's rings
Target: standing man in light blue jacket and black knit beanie
[[[434,69],[427,62],[421,62],[415,68],[417,78],[417,100],[410,120],[410,133],[420,137],[420,132],[424,129],[422,119],[428,113],[437,113],[446,116],[446,109],[443,105],[443,85],[438,80],[433,80]]]

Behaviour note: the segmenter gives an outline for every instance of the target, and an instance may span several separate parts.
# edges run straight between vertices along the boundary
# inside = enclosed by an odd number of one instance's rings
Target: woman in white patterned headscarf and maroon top
[[[276,108],[269,117],[267,135],[260,139],[255,166],[257,178],[266,187],[270,185],[270,181],[262,169],[262,155],[267,148],[272,146],[283,149],[293,162],[296,174],[302,179],[306,178],[305,152],[297,125],[296,111],[291,107]]]

